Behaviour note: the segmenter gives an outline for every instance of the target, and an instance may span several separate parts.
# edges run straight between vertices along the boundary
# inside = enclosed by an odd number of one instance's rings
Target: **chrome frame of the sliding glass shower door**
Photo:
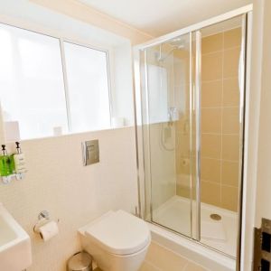
[[[196,187],[196,193],[195,193],[195,199],[196,199],[196,215],[195,215],[195,233],[192,233],[191,237],[188,238],[193,238],[196,241],[201,240],[201,29],[204,27],[208,27],[212,24],[216,23],[221,23],[223,21],[232,19],[234,17],[243,15],[243,37],[242,37],[242,74],[241,76],[243,77],[243,82],[240,88],[241,95],[243,96],[242,103],[240,104],[240,117],[242,120],[244,119],[244,107],[245,107],[245,81],[246,81],[246,31],[244,29],[248,28],[247,23],[247,16],[248,14],[251,14],[252,12],[252,5],[246,5],[244,7],[238,8],[234,11],[231,11],[226,14],[221,14],[219,16],[213,17],[209,20],[203,21],[201,23],[195,23],[189,27],[183,28],[179,31],[173,32],[166,34],[162,37],[156,38],[153,41],[150,42],[145,42],[144,44],[140,44],[134,47],[134,57],[135,57],[135,112],[136,112],[136,117],[135,117],[135,133],[136,133],[136,145],[137,145],[137,155],[138,155],[138,161],[137,161],[137,172],[138,172],[138,193],[139,193],[139,206],[142,207],[141,211],[141,217],[145,220],[147,220],[147,205],[148,203],[146,202],[146,189],[145,189],[145,157],[144,155],[141,156],[138,153],[140,152],[141,154],[144,154],[146,150],[144,150],[144,145],[143,145],[143,134],[144,134],[144,129],[141,127],[142,124],[144,124],[143,121],[143,108],[141,104],[141,84],[142,82],[140,81],[140,54],[139,51],[144,51],[147,48],[153,47],[154,45],[159,45],[163,42],[167,42],[172,40],[173,38],[180,37],[184,34],[190,34],[190,41],[191,41],[191,46],[192,46],[192,34],[195,33],[195,78],[192,80],[192,72],[191,72],[191,86],[190,86],[190,95],[194,99],[192,101],[191,99],[191,104],[190,104],[190,110],[192,114],[192,110],[195,113],[196,116],[196,145],[195,145],[195,155],[196,155],[196,160],[195,160],[195,165],[196,165],[196,182],[195,182],[195,187]],[[245,36],[244,36],[245,35]],[[192,47],[191,47],[192,48]],[[191,67],[190,69],[192,70],[192,50],[191,50]],[[145,79],[146,80],[146,79]],[[193,84],[194,81],[194,84]],[[191,123],[190,125],[192,126],[192,117],[191,117]],[[243,127],[242,131],[244,128],[244,121],[243,121]],[[192,127],[191,127],[192,129]],[[244,152],[242,153],[244,154]],[[192,155],[191,155],[192,158]],[[240,171],[242,171],[242,167],[240,167]],[[241,184],[242,185],[242,184]],[[192,180],[191,180],[191,186],[192,186]],[[240,191],[240,202],[242,201],[242,192]],[[191,204],[192,205],[192,204]],[[242,217],[242,210],[241,210],[241,205],[240,205],[240,210],[238,210],[238,223],[239,223],[239,229],[241,229],[241,217]],[[160,225],[161,226],[161,225]],[[182,233],[181,233],[182,235]],[[187,236],[183,235],[185,238]],[[240,230],[238,232],[238,245],[240,244]],[[202,246],[205,246],[202,244]],[[240,247],[238,247],[240,249]],[[214,248],[212,248],[214,249]],[[216,250],[216,249],[214,249]],[[221,252],[222,253],[222,252]],[[239,266],[239,253],[238,253],[238,259],[237,259],[237,268]]]

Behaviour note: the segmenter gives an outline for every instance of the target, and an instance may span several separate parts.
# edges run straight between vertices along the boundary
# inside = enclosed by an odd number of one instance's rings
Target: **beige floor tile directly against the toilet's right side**
[[[180,271],[188,261],[162,246],[152,242],[146,256],[146,261],[161,270]]]

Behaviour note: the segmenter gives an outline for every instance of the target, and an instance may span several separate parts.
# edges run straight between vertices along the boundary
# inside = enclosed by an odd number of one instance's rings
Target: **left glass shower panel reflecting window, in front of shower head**
[[[192,42],[141,51],[146,219],[192,237]]]

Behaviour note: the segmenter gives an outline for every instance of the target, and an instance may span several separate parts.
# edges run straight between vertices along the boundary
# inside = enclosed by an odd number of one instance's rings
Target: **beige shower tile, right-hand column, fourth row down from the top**
[[[222,117],[222,133],[238,134],[239,133],[239,108],[224,107]]]

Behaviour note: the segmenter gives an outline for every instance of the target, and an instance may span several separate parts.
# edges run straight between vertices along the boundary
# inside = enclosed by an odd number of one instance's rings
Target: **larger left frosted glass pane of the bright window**
[[[60,41],[0,23],[0,98],[21,138],[67,132]]]

